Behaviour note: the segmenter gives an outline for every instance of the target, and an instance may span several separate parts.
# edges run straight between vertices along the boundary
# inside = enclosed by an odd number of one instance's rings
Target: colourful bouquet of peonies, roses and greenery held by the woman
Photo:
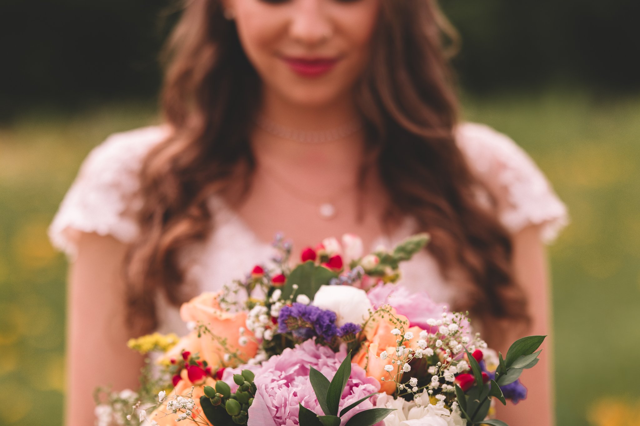
[[[160,356],[140,393],[97,394],[98,424],[506,425],[493,405],[526,397],[518,377],[545,337],[517,340],[503,357],[467,314],[397,284],[399,264],[428,239],[363,255],[346,234],[292,264],[276,237],[269,265],[182,305],[188,335],[129,342]]]

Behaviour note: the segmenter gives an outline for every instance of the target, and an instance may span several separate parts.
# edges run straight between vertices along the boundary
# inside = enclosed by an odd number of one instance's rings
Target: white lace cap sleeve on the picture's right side
[[[543,241],[554,241],[568,224],[566,207],[531,157],[486,125],[463,123],[456,137],[470,168],[497,200],[502,224],[513,233],[541,225]]]

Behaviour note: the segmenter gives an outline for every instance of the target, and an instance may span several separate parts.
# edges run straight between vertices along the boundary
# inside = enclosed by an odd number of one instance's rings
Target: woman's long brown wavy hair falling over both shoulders
[[[457,37],[434,0],[382,0],[371,66],[356,87],[371,155],[390,196],[386,219],[409,214],[431,234],[428,250],[445,275],[464,272],[454,308],[482,321],[524,324],[524,293],[513,275],[508,232],[481,208],[482,186],[456,146],[458,105],[448,52]],[[172,135],[141,169],[140,238],[127,255],[129,320],[156,325],[148,295],[184,301],[179,254],[212,231],[207,199],[231,181],[250,186],[249,131],[261,81],[220,0],[189,0],[168,44],[163,110]]]

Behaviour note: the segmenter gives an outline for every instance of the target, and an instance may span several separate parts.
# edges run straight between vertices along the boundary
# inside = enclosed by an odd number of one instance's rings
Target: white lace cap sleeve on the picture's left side
[[[163,126],[140,128],[115,133],[94,148],[49,227],[52,245],[73,258],[81,232],[131,242],[138,233],[134,213],[141,205],[138,172],[149,149],[166,134]]]

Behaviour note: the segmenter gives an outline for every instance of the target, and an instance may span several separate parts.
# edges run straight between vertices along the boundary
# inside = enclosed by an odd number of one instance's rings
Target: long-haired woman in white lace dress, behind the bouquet
[[[166,124],[96,148],[51,226],[74,259],[68,424],[92,422],[95,386],[136,386],[131,334],[180,331],[180,303],[268,259],[276,231],[295,252],[427,231],[404,284],[503,330],[503,353],[548,334],[542,241],[564,206],[508,137],[458,122],[444,23],[427,0],[187,3]],[[500,408],[512,426],[552,423],[546,349]]]

